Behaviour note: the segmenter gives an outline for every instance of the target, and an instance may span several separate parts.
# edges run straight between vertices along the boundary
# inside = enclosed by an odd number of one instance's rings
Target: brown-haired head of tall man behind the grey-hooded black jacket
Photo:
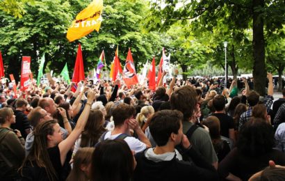
[[[196,104],[196,91],[195,88],[190,86],[178,88],[170,97],[171,109],[181,111],[185,121],[188,121],[193,115]]]

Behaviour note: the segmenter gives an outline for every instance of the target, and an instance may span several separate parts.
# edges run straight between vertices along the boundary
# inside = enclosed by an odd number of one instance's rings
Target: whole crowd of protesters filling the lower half
[[[0,180],[285,180],[285,90],[252,79],[0,88]],[[17,95],[17,98],[15,98]]]

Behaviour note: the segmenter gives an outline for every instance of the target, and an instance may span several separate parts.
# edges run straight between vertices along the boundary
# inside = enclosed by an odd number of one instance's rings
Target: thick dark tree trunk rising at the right
[[[253,50],[254,50],[254,91],[264,96],[266,91],[266,63],[265,63],[265,43],[263,35],[263,15],[260,8],[264,7],[264,0],[253,0]],[[259,8],[259,10],[256,10]]]

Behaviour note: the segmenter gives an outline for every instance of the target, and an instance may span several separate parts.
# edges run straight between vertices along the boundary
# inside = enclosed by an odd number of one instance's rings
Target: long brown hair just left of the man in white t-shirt
[[[104,116],[100,110],[90,110],[86,126],[81,134],[81,147],[94,146],[101,134],[103,134],[106,129],[104,125]]]

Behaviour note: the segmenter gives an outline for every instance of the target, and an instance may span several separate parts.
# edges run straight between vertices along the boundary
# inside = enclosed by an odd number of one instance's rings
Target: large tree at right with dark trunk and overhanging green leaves
[[[227,24],[234,25],[232,29],[249,29],[252,26],[254,89],[264,95],[266,66],[263,28],[264,24],[270,31],[282,27],[285,12],[284,3],[284,1],[265,2],[264,0],[154,1],[152,3],[154,16],[161,15],[163,19],[159,21],[149,17],[149,21],[154,22],[155,29],[168,29],[177,20],[182,20],[186,23],[202,24],[205,29],[211,31],[213,27],[217,26],[221,17]],[[162,4],[163,6],[161,6]]]

